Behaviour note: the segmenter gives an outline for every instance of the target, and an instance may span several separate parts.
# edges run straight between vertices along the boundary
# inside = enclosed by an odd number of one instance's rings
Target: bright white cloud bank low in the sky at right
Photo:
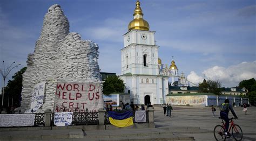
[[[220,81],[223,87],[238,86],[242,80],[248,80],[252,77],[256,78],[256,61],[242,62],[238,65],[229,67],[214,66],[203,71],[206,78]],[[203,78],[195,72],[191,72],[187,79],[191,82],[202,82]]]

